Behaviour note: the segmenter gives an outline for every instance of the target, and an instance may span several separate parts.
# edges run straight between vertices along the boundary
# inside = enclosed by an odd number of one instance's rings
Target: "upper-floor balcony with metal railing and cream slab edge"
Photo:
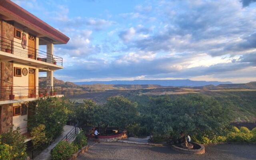
[[[62,58],[50,53],[32,48],[21,43],[1,37],[0,60],[2,62],[15,61],[30,64],[45,70],[62,69]]]

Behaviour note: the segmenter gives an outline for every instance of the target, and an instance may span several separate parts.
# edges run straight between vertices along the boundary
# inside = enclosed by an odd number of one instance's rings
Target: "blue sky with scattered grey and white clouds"
[[[256,81],[256,0],[13,0],[70,37],[64,81]]]

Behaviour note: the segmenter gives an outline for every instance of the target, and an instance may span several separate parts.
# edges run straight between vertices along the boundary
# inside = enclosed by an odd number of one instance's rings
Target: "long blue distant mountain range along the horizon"
[[[219,82],[219,81],[195,81],[195,80],[112,80],[112,81],[90,81],[90,82],[74,82],[75,84],[132,84],[132,85],[142,85],[142,84],[153,84],[161,86],[206,86],[219,84],[232,84],[232,82]]]

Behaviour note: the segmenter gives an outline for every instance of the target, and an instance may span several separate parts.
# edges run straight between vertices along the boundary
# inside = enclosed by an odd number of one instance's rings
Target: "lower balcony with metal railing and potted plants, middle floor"
[[[62,97],[62,93],[62,87],[2,86],[0,90],[0,105],[33,101],[36,98],[46,96]]]

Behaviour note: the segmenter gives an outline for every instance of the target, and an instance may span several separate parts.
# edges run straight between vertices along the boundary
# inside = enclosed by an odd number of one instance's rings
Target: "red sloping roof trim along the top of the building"
[[[40,20],[10,0],[0,0],[0,10],[3,10],[12,16],[15,16],[16,18],[23,20],[24,22],[30,24],[42,32],[45,32],[48,36],[58,40],[63,44],[66,44],[70,39],[60,31],[56,30],[46,22]]]

